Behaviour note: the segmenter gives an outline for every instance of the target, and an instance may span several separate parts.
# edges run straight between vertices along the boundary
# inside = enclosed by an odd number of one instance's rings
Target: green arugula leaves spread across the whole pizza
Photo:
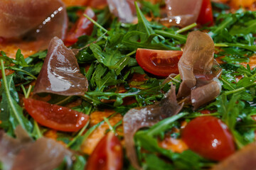
[[[152,5],[148,2],[142,3],[146,14],[153,12],[154,16],[159,16],[159,4]],[[204,27],[202,30],[209,30],[209,35],[215,42],[215,58],[222,60],[220,65],[223,74],[220,81],[223,84],[223,91],[215,102],[199,110],[213,111],[210,115],[221,118],[228,125],[235,137],[238,148],[242,148],[255,140],[256,123],[252,119],[256,115],[256,69],[251,69],[249,65],[243,67],[241,62],[249,62],[250,57],[255,55],[256,33],[256,12],[243,11],[226,13],[226,6],[218,6],[214,11],[216,20],[215,26]],[[70,21],[78,19],[76,11],[82,7],[68,8]],[[157,10],[156,10],[157,9]],[[82,104],[73,109],[90,115],[93,111],[101,108],[114,109],[117,113],[124,115],[130,108],[146,106],[160,101],[164,97],[164,92],[170,89],[169,84],[162,84],[164,79],[146,74],[139,67],[135,60],[137,48],[148,48],[156,50],[181,50],[186,42],[188,30],[194,28],[196,24],[186,28],[176,27],[166,28],[155,21],[147,21],[144,13],[137,6],[137,24],[119,23],[117,18],[113,18],[108,8],[97,10],[97,23],[92,35],[83,35],[73,48],[80,49],[76,55],[82,74],[90,82],[89,90],[85,96],[63,97],[52,95],[50,103],[65,105],[78,98],[82,99]],[[36,79],[43,65],[47,51],[41,51],[24,59],[21,50],[16,53],[13,60],[1,51],[1,113],[0,127],[6,130],[9,135],[14,136],[17,125],[21,125],[31,137],[38,139],[46,132],[46,128],[39,127],[36,121],[27,114],[23,114],[23,108],[19,105],[19,95],[26,98],[29,96],[32,86],[28,86]],[[87,69],[85,69],[87,68]],[[14,73],[7,76],[5,69],[14,70]],[[142,81],[134,81],[134,74],[146,74]],[[240,78],[238,81],[238,77]],[[176,77],[173,81],[178,89],[180,79]],[[28,88],[25,88],[25,87]],[[119,86],[123,86],[125,93],[119,93]],[[124,98],[132,97],[137,102],[123,105]],[[104,102],[106,100],[113,102]],[[111,118],[113,115],[110,115]],[[139,160],[144,169],[202,169],[215,164],[207,159],[203,159],[191,150],[182,153],[174,153],[171,150],[159,147],[158,140],[163,139],[166,134],[171,137],[180,137],[179,132],[171,132],[173,128],[181,128],[181,122],[189,122],[198,116],[204,116],[199,111],[193,111],[189,107],[183,108],[178,115],[167,118],[157,123],[147,130],[140,130],[135,135]],[[82,128],[77,134],[58,132],[58,140],[67,144],[74,150],[79,150],[80,145],[90,133],[102,125],[109,118],[95,126]],[[182,121],[181,121],[182,120]],[[122,121],[114,125],[113,130],[122,125]],[[85,130],[87,130],[85,132]],[[84,134],[85,132],[85,134]],[[84,135],[82,135],[84,134]],[[122,138],[122,136],[119,136]],[[146,152],[140,152],[141,149]],[[158,157],[156,155],[160,155]],[[164,159],[162,159],[164,158]],[[85,165],[87,156],[77,156],[72,167],[65,167],[65,161],[58,169],[80,169]],[[166,163],[168,160],[172,164]],[[132,169],[128,161],[124,164],[124,169]]]

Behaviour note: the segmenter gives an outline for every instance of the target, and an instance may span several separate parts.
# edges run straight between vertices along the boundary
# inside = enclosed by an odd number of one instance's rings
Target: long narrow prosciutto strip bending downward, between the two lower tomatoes
[[[150,127],[164,118],[176,115],[181,111],[182,107],[183,105],[178,105],[176,101],[175,86],[171,86],[171,90],[161,102],[144,108],[133,108],[124,115],[124,142],[127,157],[132,163],[132,166],[136,169],[141,169],[134,148],[134,134],[137,130],[144,127]]]

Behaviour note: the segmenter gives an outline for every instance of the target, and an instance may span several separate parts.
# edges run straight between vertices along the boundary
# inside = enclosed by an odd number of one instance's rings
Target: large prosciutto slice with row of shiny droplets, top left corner
[[[30,45],[41,50],[54,36],[65,38],[67,28],[68,16],[60,0],[0,1],[0,37],[35,42]]]

